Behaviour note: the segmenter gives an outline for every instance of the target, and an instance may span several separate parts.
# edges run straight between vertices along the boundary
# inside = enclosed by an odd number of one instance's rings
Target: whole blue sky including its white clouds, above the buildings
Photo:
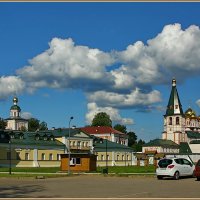
[[[161,138],[173,77],[199,114],[199,19],[200,3],[0,3],[0,117],[16,93],[49,128],[107,112]]]

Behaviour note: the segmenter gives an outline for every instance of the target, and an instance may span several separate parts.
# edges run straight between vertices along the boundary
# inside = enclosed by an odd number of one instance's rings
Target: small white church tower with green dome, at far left
[[[28,120],[21,118],[21,108],[17,105],[18,98],[13,98],[13,105],[10,108],[10,117],[6,119],[6,129],[28,130]]]

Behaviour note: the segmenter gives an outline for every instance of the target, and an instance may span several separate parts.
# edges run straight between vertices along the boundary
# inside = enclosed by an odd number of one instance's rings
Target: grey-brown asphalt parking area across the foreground
[[[79,175],[61,178],[0,178],[0,198],[200,198],[195,178]],[[45,200],[45,199],[43,199]]]

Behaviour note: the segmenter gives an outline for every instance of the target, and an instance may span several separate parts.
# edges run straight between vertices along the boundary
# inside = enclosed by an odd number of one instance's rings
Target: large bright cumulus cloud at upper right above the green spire
[[[155,38],[137,41],[126,50],[115,52],[122,66],[111,73],[115,87],[142,87],[168,84],[172,77],[182,81],[200,74],[200,30],[191,25],[185,30],[180,24],[166,25]],[[190,72],[190,73],[188,73]],[[126,85],[121,80],[127,80]]]

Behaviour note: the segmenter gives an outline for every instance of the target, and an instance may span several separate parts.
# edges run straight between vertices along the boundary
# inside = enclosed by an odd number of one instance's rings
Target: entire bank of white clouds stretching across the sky
[[[0,98],[25,89],[79,89],[87,95],[88,105],[95,105],[88,108],[87,119],[95,110],[110,109],[123,120],[118,109],[158,108],[153,104],[161,101],[161,94],[154,86],[169,84],[172,77],[180,83],[200,75],[199,55],[200,29],[196,25],[185,30],[178,23],[166,25],[154,38],[112,52],[76,45],[71,38],[53,38],[46,51],[17,70],[17,76],[0,79]]]

